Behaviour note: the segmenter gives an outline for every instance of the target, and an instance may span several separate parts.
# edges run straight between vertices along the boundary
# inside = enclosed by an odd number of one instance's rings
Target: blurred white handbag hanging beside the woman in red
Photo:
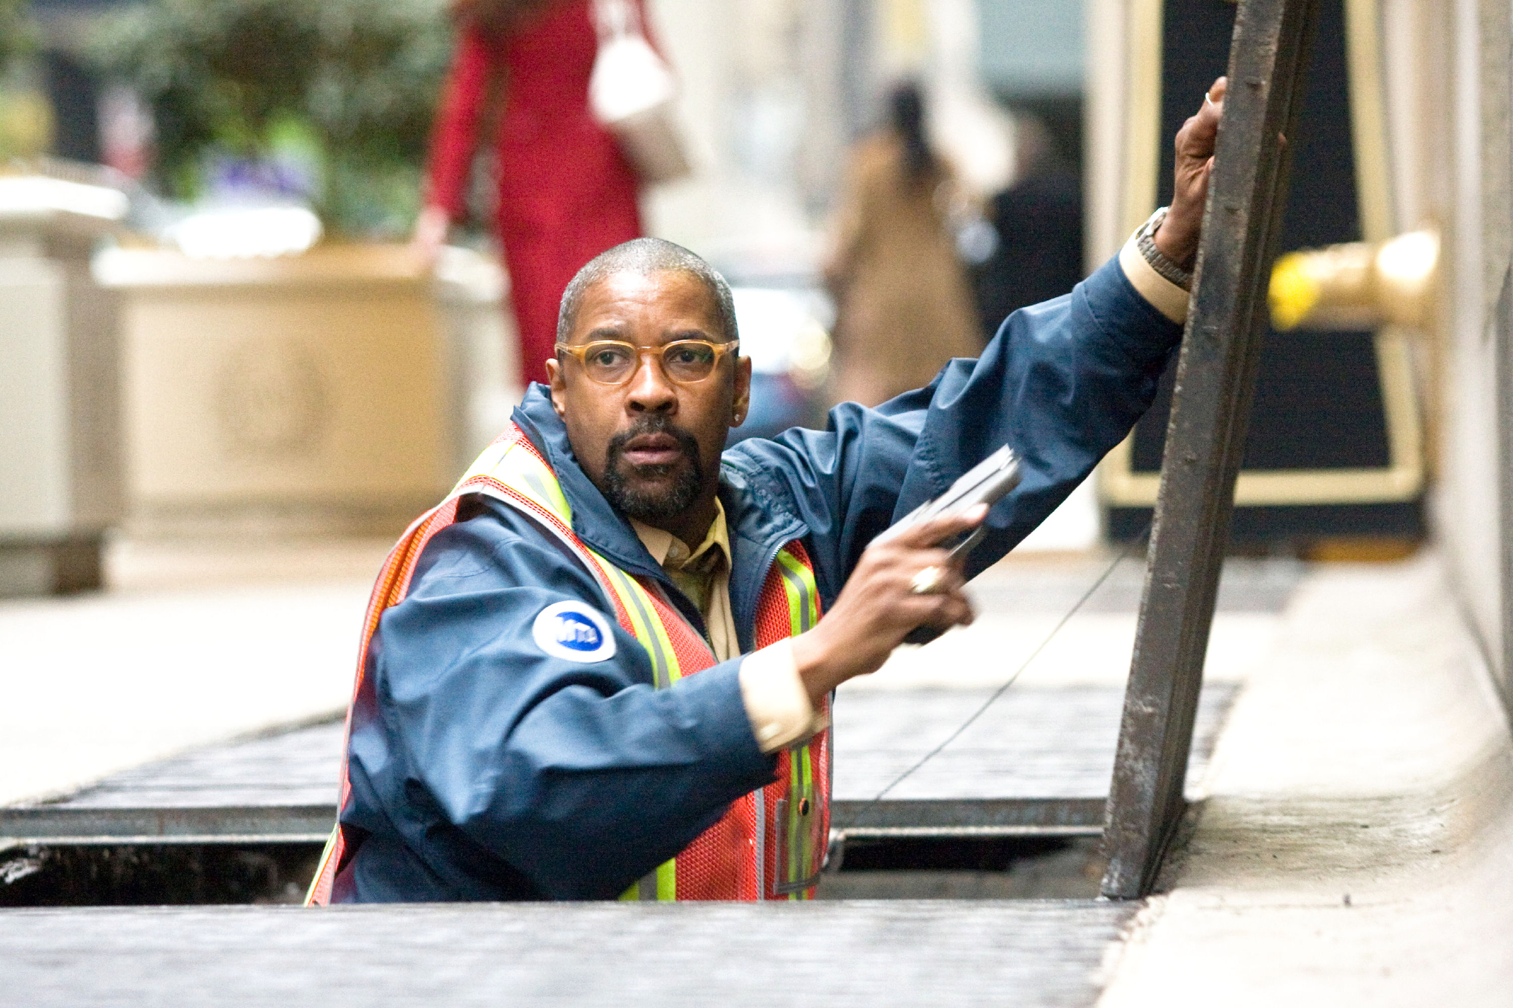
[[[593,0],[599,51],[589,77],[589,107],[620,142],[648,183],[690,172],[682,138],[673,122],[678,94],[672,70],[642,33],[631,0]]]

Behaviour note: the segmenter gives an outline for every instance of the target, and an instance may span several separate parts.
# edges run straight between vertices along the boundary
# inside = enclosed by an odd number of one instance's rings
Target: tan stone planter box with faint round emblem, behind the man
[[[399,532],[455,479],[430,272],[398,245],[95,258],[121,295],[138,533]]]

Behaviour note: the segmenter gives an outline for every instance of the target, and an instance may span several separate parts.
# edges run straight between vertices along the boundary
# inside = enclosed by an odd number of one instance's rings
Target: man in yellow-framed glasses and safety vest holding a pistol
[[[725,281],[654,239],[586,266],[551,388],[380,576],[312,902],[806,896],[831,691],[917,626],[968,623],[964,577],[1150,405],[1223,95],[1177,136],[1170,212],[1117,260],[1011,316],[980,360],[843,404],[823,432],[722,455],[750,387]],[[1023,482],[991,512],[868,549],[1005,443]],[[977,524],[952,567],[937,543]]]

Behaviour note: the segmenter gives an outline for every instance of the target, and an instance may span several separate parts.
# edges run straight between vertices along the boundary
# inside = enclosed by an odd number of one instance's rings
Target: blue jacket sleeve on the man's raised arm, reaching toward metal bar
[[[741,441],[726,459],[796,509],[829,603],[873,536],[1011,444],[1023,479],[988,515],[976,574],[1129,434],[1180,339],[1114,258],[1070,295],[1011,314],[979,360],[950,361],[926,388],[876,410],[841,404],[825,431]]]

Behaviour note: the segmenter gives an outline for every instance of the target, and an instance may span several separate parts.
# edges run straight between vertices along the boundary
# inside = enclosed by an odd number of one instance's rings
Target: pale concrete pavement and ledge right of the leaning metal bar
[[[1513,1000],[1513,747],[1434,556],[1316,568],[1201,790],[1100,1005]]]

